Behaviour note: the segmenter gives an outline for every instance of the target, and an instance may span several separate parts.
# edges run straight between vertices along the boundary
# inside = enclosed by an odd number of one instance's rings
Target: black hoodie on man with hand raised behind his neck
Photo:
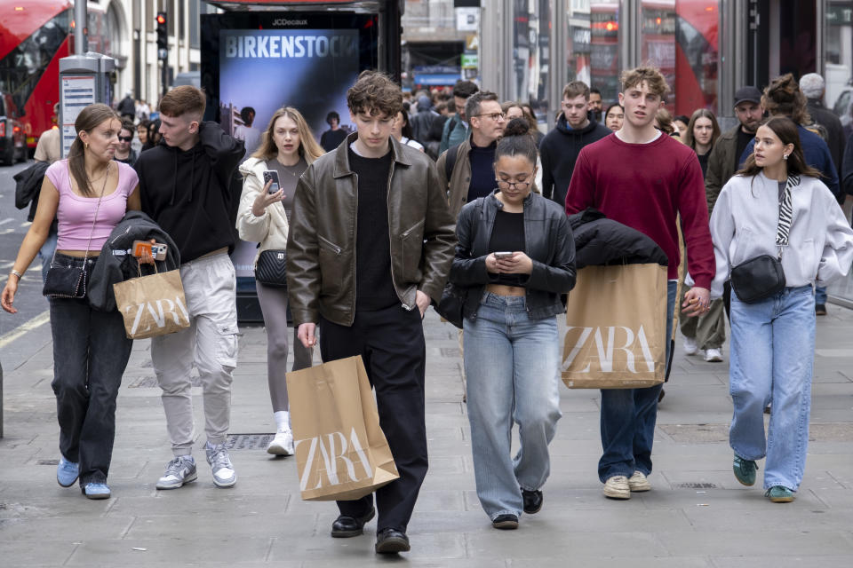
[[[243,141],[216,122],[199,124],[198,144],[186,152],[163,141],[140,154],[142,210],[169,233],[182,263],[234,244],[229,184],[243,154]]]

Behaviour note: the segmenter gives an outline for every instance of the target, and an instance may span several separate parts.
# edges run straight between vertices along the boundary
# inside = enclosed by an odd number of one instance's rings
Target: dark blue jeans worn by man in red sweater
[[[666,365],[669,366],[670,338],[673,336],[675,293],[678,282],[666,286]],[[598,477],[631,477],[634,471],[651,473],[651,446],[655,441],[658,396],[663,384],[646,389],[602,389],[602,458]]]

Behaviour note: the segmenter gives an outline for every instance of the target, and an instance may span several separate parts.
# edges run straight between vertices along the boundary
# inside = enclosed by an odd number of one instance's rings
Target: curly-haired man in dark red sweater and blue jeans
[[[688,269],[696,285],[684,296],[683,313],[708,311],[715,264],[708,230],[705,183],[696,154],[654,126],[669,87],[654,67],[622,74],[619,103],[625,107],[621,130],[584,147],[566,195],[566,213],[587,207],[645,233],[669,257],[666,334],[672,336],[678,279],[681,214]],[[637,298],[642,302],[644,298]],[[666,343],[669,360],[669,342]],[[602,448],[598,475],[604,495],[630,499],[649,491],[651,446],[662,385],[647,389],[602,390]]]

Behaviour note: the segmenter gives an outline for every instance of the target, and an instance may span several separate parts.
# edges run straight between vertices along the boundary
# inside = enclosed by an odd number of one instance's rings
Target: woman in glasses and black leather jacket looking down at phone
[[[495,150],[495,184],[459,212],[450,281],[466,290],[467,409],[482,508],[498,529],[542,507],[548,444],[560,419],[560,296],[575,285],[575,244],[562,207],[530,186],[538,151],[516,118]],[[513,423],[520,448],[510,455]]]

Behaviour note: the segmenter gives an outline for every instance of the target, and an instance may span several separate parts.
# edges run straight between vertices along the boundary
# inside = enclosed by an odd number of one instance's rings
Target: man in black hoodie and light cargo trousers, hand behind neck
[[[160,102],[158,146],[140,154],[142,210],[177,244],[190,327],[151,340],[151,361],[163,389],[163,410],[174,459],[157,489],[195,481],[193,405],[189,372],[198,369],[204,400],[207,461],[213,483],[230,487],[237,476],[225,448],[231,411],[231,375],[237,364],[236,279],[228,248],[231,176],[243,142],[216,122],[202,122],[204,93],[181,86]]]

